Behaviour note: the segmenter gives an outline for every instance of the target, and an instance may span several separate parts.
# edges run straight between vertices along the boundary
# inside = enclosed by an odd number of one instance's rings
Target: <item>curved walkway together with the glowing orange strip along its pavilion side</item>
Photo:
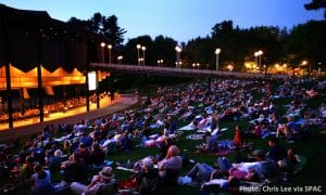
[[[78,107],[65,113],[51,114],[50,117],[45,117],[43,122],[39,122],[38,118],[14,122],[14,129],[9,130],[8,123],[0,125],[0,141],[11,140],[26,134],[33,134],[41,131],[47,125],[58,123],[75,123],[82,119],[95,119],[100,116],[112,114],[117,110],[125,109],[137,103],[137,99],[131,95],[121,95],[117,101],[112,103],[109,101],[101,101],[101,108],[96,109],[96,104],[90,104],[90,112],[86,113],[86,107]]]

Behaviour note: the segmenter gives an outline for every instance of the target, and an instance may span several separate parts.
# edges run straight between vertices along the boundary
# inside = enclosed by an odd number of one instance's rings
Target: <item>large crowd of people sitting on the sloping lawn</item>
[[[16,140],[14,148],[21,148],[17,153],[1,144],[0,174],[14,183],[30,185],[32,194],[66,190],[76,194],[113,194],[118,190],[135,193],[135,188],[139,194],[151,194],[177,181],[202,184],[201,192],[210,193],[237,191],[242,181],[262,183],[279,172],[292,176],[303,158],[294,148],[281,146],[279,140],[300,141],[309,136],[311,127],[325,126],[325,102],[315,110],[306,107],[306,101],[325,93],[325,89],[317,84],[303,89],[294,81],[285,81],[277,88],[272,84],[215,80],[210,86],[196,82],[159,88],[141,108],[116,112],[95,121],[83,119],[74,125],[47,127],[25,143]],[[292,102],[285,105],[287,112],[280,116],[274,101],[284,98]],[[216,157],[216,165],[190,160],[193,167],[178,178],[189,164],[187,156],[180,154],[178,123],[189,122],[192,130],[204,132],[203,144],[193,151],[214,154],[221,150],[220,126],[224,121],[248,121],[246,129],[236,126],[229,142],[229,148],[237,153],[236,161],[231,164],[225,157]],[[158,147],[158,155],[139,157],[133,165],[108,160],[111,155],[137,150],[137,139],[140,147]],[[244,146],[255,139],[268,140],[267,152],[254,150],[250,157],[241,156]],[[133,187],[123,185],[114,176],[114,168],[121,166],[137,172],[129,182]],[[59,172],[61,181],[54,184],[51,176]]]

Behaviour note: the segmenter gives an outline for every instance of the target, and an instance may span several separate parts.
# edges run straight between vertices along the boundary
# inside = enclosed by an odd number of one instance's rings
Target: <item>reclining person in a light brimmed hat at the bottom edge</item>
[[[116,190],[116,180],[114,179],[112,167],[103,167],[101,171],[92,177],[89,185],[78,182],[71,184],[72,192],[76,194],[113,194]]]

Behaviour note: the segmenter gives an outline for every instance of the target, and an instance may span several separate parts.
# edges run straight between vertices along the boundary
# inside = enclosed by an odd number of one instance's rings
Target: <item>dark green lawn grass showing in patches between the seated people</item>
[[[261,99],[262,95],[259,92],[255,92],[253,94],[254,99]],[[274,104],[276,107],[276,113],[278,116],[281,116],[286,112],[286,107],[284,107],[285,104],[289,104],[292,101],[290,98],[286,99],[277,99],[274,100]],[[309,101],[308,106],[312,108],[316,108],[321,105],[323,102],[323,96],[318,96],[313,101]],[[187,121],[188,122],[188,121]],[[178,128],[183,127],[187,122],[185,121],[178,121]],[[238,120],[238,121],[222,121],[220,123],[220,128],[228,128],[227,131],[224,131],[224,134],[218,140],[233,140],[234,138],[234,130],[235,126],[239,125],[242,129],[248,128],[248,120]],[[162,129],[155,129],[153,132],[162,131]],[[308,158],[308,165],[304,167],[302,171],[300,171],[292,180],[290,180],[288,183],[283,184],[278,183],[277,185],[287,185],[287,186],[302,186],[305,185],[323,185],[325,184],[325,174],[326,169],[324,166],[326,165],[326,134],[319,133],[318,128],[311,129],[312,136],[308,138],[304,141],[296,141],[292,144],[287,143],[286,141],[281,140],[280,144],[286,147],[294,147],[298,150],[300,155],[303,155]],[[187,140],[186,135],[193,133],[195,131],[185,131],[177,143],[177,145],[180,148],[181,154],[187,156],[189,159],[193,159],[198,162],[206,162],[209,165],[213,165],[218,156],[213,156],[209,154],[197,154],[193,153],[196,145],[199,141],[193,140]],[[134,142],[136,145],[139,144],[139,139],[134,139]],[[267,141],[266,140],[250,140],[250,142],[254,142],[253,148],[263,148],[267,150]],[[321,151],[324,150],[324,154],[321,154]],[[133,151],[114,154],[111,156],[108,156],[109,160],[113,161],[120,161],[120,162],[126,162],[128,159],[131,161],[136,161],[140,158],[143,158],[149,155],[156,155],[159,153],[159,150],[156,147],[151,148],[145,148],[145,147],[135,147]],[[249,154],[250,151],[243,152],[243,156]],[[235,159],[235,153],[230,153],[227,155],[227,157],[234,161]],[[189,170],[191,169],[190,166],[186,166],[183,168],[183,171],[180,172],[180,176],[185,176]],[[121,171],[121,170],[114,170],[114,173],[117,179],[126,180],[130,177],[130,172]],[[53,182],[60,182],[61,176],[59,173],[52,173],[52,181]],[[323,188],[324,190],[324,188]],[[170,185],[168,187],[164,187],[161,190],[159,194],[196,194],[196,192],[199,191],[199,187],[197,186],[178,186],[178,185]],[[324,190],[325,191],[325,190]],[[18,191],[15,191],[13,194],[28,194],[29,187],[23,187]]]

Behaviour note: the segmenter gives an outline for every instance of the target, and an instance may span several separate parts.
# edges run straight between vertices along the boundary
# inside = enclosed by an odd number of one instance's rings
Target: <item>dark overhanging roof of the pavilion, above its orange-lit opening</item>
[[[53,20],[43,11],[26,11],[0,4],[0,66],[8,63],[24,72],[36,65],[50,72],[85,70],[101,60],[105,37]]]

